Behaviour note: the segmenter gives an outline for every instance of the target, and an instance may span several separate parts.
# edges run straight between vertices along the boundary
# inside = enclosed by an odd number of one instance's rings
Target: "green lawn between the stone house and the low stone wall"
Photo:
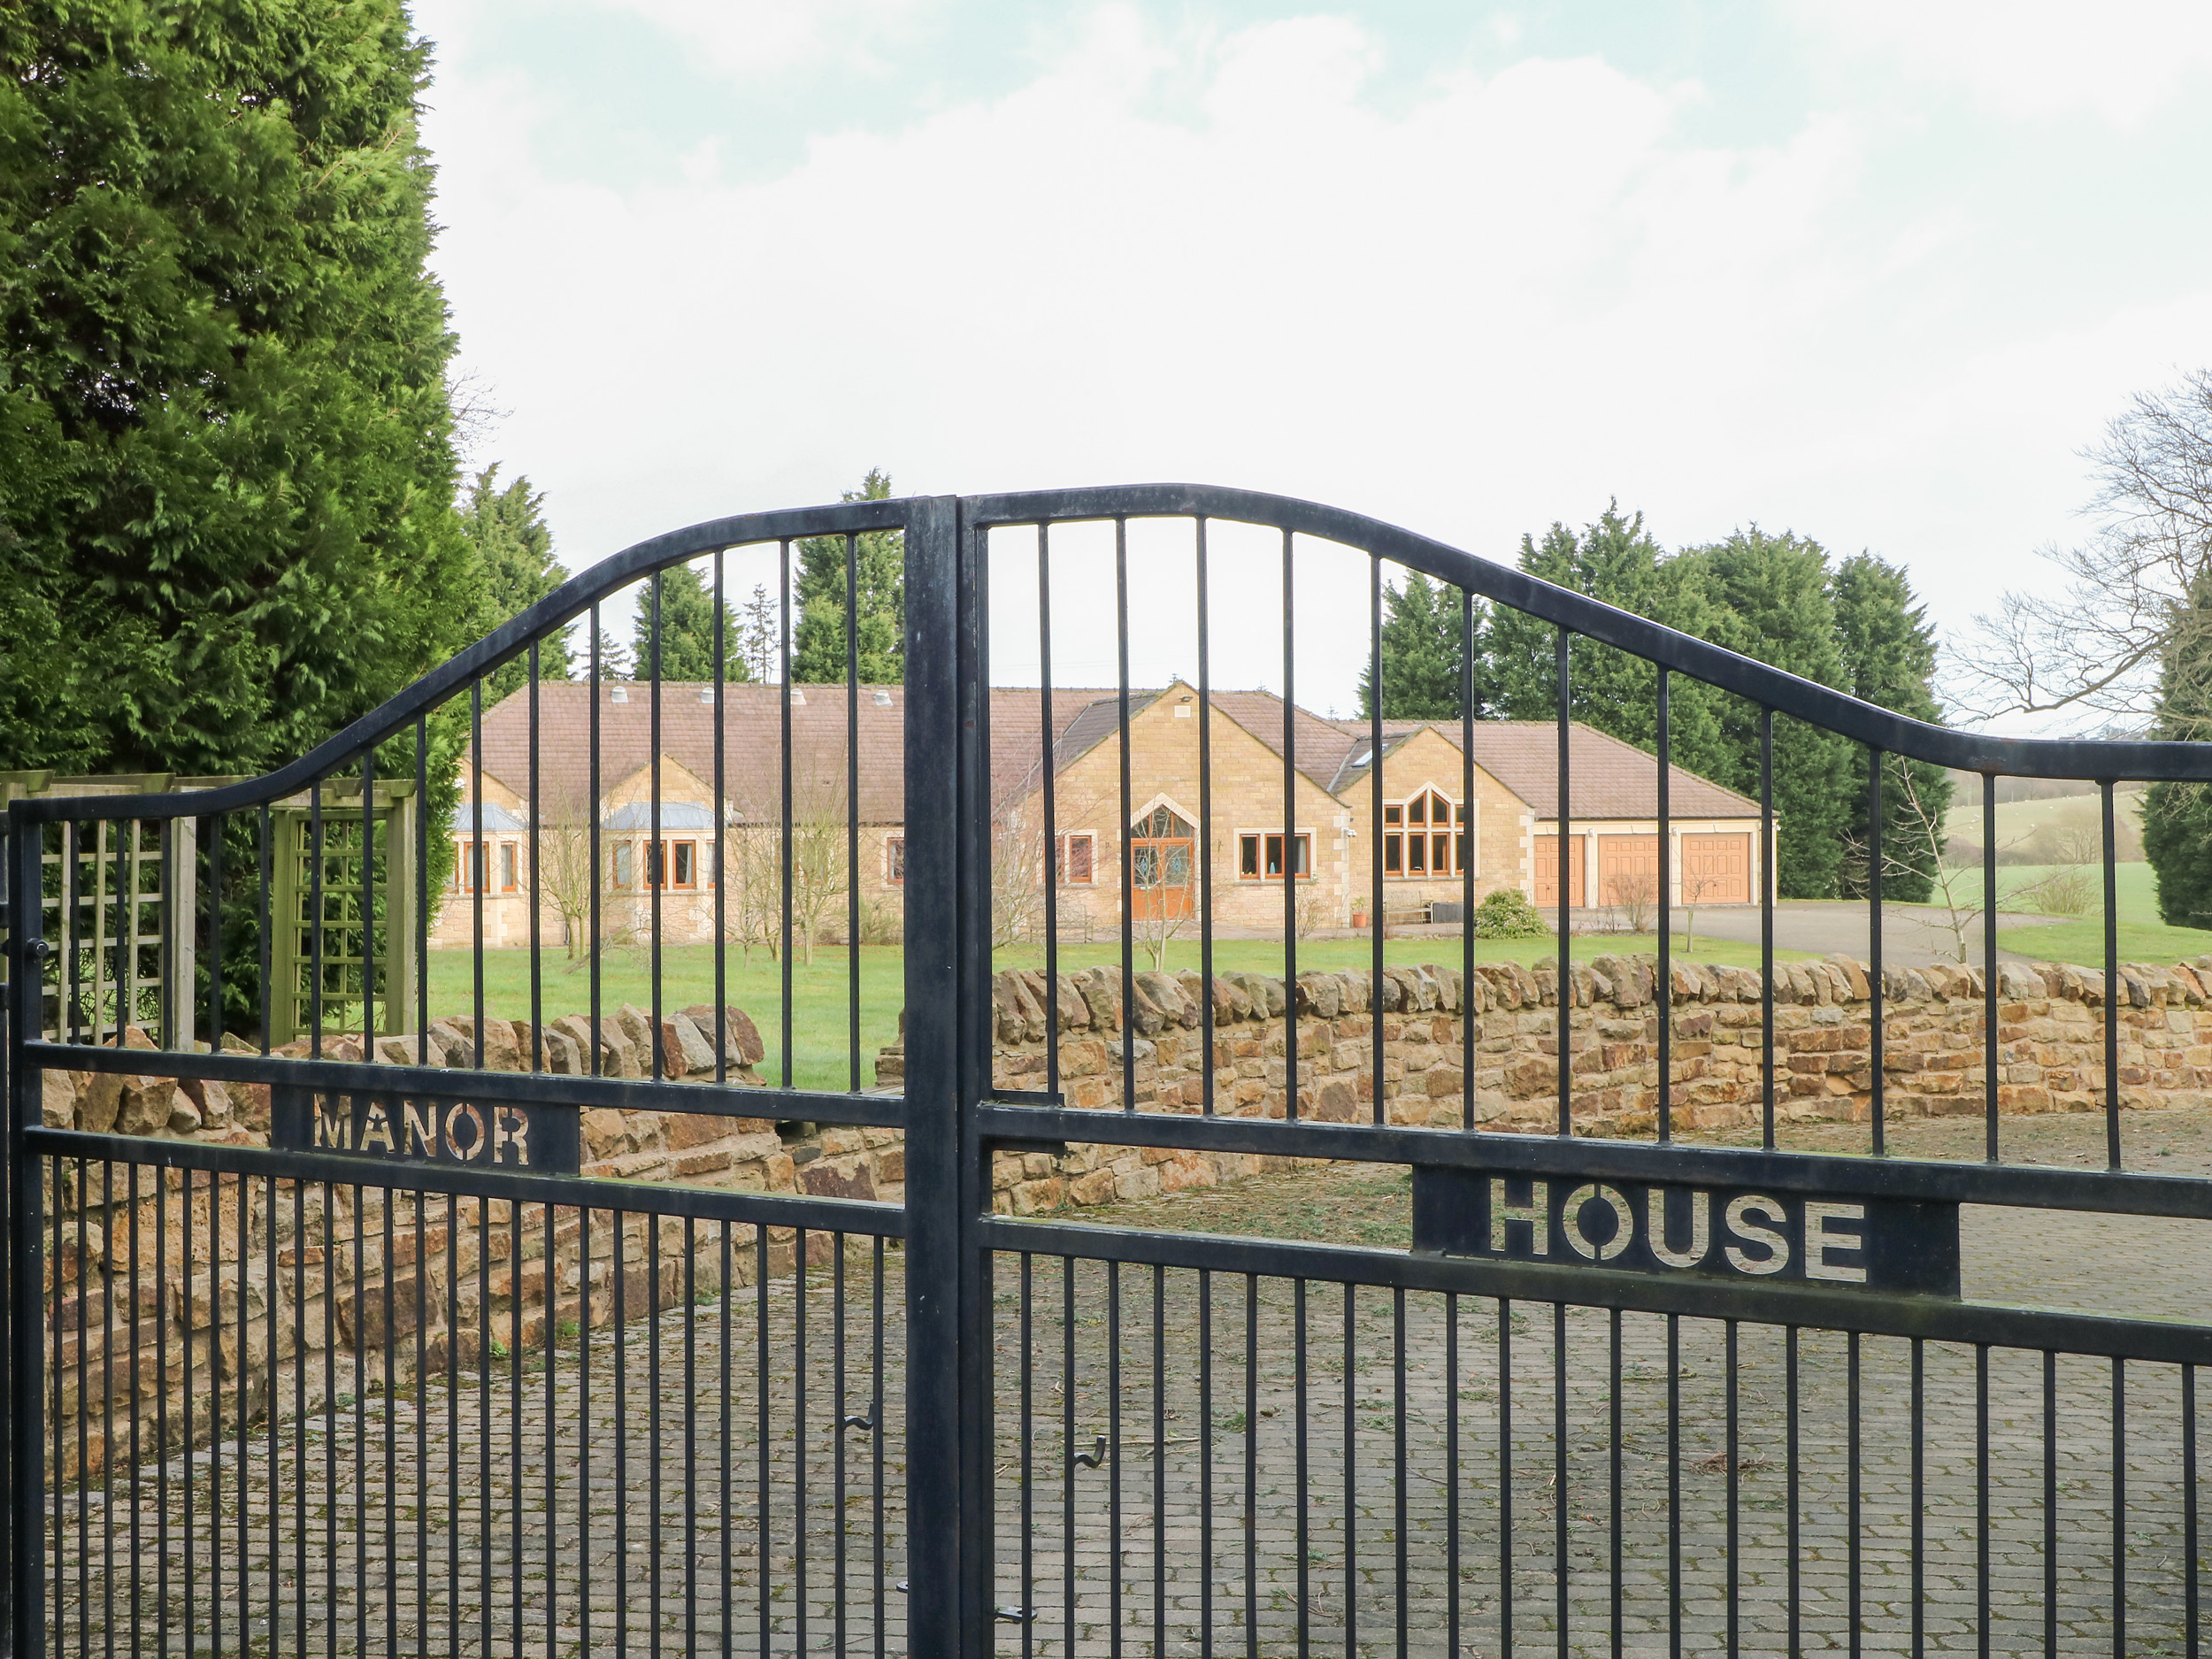
[[[1756,967],[1756,945],[1732,945],[1723,940],[1699,942],[1699,962],[1728,962],[1734,967]],[[1571,951],[1577,962],[1608,953],[1652,953],[1659,945],[1652,936],[1597,933],[1575,936]],[[1093,945],[1068,945],[1060,951],[1060,969],[1068,973],[1079,967],[1119,962],[1119,945],[1110,940]],[[1298,969],[1365,969],[1371,945],[1365,938],[1301,940]],[[1528,940],[1475,940],[1478,962],[1544,962],[1553,960],[1557,947],[1551,936]],[[1776,951],[1776,960],[1803,960],[1803,951]],[[1387,938],[1383,960],[1409,967],[1416,962],[1458,964],[1460,940],[1422,936]],[[1150,967],[1150,958],[1137,958],[1139,967]],[[1035,969],[1044,964],[1037,951],[1000,951],[998,964]],[[1199,940],[1177,938],[1168,945],[1168,969],[1197,969]],[[1214,940],[1214,969],[1237,969],[1245,973],[1281,973],[1281,940]],[[763,951],[745,962],[739,951],[723,956],[726,989],[730,1002],[752,1015],[761,1029],[768,1057],[761,1075],[768,1082],[783,1077],[781,1018],[783,969]],[[796,1088],[847,1088],[849,1086],[849,1024],[847,1024],[847,951],[841,945],[823,945],[814,951],[814,962],[792,964],[792,1084]],[[584,964],[571,964],[557,949],[544,953],[540,998],[546,1020],[564,1013],[591,1013],[591,973]],[[714,1000],[714,953],[706,945],[672,945],[661,951],[661,1009],[684,1009]],[[860,1086],[876,1082],[876,1051],[898,1037],[898,1009],[905,1000],[905,951],[898,945],[860,947]],[[599,1009],[611,1015],[624,1002],[639,1009],[653,1006],[653,964],[644,953],[615,951],[599,964]],[[473,967],[467,951],[429,953],[429,1009],[431,1018],[467,1013],[473,1006]],[[484,1011],[493,1018],[526,1020],[531,1011],[531,953],[529,951],[484,951]]]

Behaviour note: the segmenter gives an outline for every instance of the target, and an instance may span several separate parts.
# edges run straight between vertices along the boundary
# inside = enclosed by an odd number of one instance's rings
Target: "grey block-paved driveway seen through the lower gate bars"
[[[2106,1292],[2126,1303],[2115,1312],[2199,1318],[2205,1263],[2174,1252],[2170,1223],[1971,1212],[1969,1294],[2066,1301],[2064,1287],[2053,1296],[2042,1263],[2132,1261],[2143,1270],[2135,1281],[2110,1281],[2132,1290]],[[865,1259],[856,1241],[843,1413],[874,1418]],[[588,1358],[571,1338],[551,1376],[542,1356],[520,1367],[498,1358],[489,1376],[465,1374],[451,1391],[440,1378],[418,1400],[347,1400],[332,1416],[281,1425],[274,1451],[263,1425],[248,1433],[243,1455],[230,1440],[166,1469],[119,1469],[106,1493],[97,1480],[82,1495],[71,1489],[46,1540],[60,1584],[53,1650],[898,1652],[896,1252],[887,1265],[880,1489],[876,1425],[838,1422],[836,1285],[816,1272],[803,1298],[783,1279],[765,1301],[741,1287],[728,1305],[666,1310],[657,1340],[646,1321],[633,1321],[619,1365],[615,1336],[599,1329]],[[1562,1517],[1564,1650],[1610,1652],[1615,1451],[1621,1648],[1668,1652],[1679,1597],[1683,1652],[1728,1650],[1730,1615],[1741,1650],[1787,1650],[1783,1332],[1741,1327],[1730,1367],[1728,1332],[1705,1321],[1681,1321],[1670,1356],[1668,1321],[1630,1314],[1615,1352],[1615,1327],[1599,1312],[1515,1305],[1502,1314],[1489,1301],[1447,1307],[1442,1296],[1400,1301],[1374,1290],[1347,1310],[1345,1290],[1321,1283],[1305,1287],[1301,1312],[1294,1285],[1241,1276],[1214,1276],[1201,1305],[1197,1274],[1097,1263],[1075,1270],[1068,1325],[1066,1283],[1057,1259],[1033,1263],[1024,1378],[1022,1270],[1018,1259],[1000,1263],[1000,1599],[1009,1615],[1033,1610],[998,1626],[1002,1652],[1066,1650],[1071,1564],[1082,1655],[1117,1652],[1117,1626],[1119,1648],[1133,1652],[1164,1644],[1197,1655],[1210,1628],[1214,1652],[1239,1655],[1252,1641],[1261,1655],[1292,1655],[1301,1601],[1314,1652],[1389,1655],[1402,1641],[1442,1655],[1453,1604],[1464,1652],[1504,1652],[1509,1613],[1513,1652],[1559,1652]],[[2088,1287],[2099,1283],[2099,1274],[2084,1276]],[[1026,1451],[1018,1433],[1024,1385]],[[1672,1444],[1670,1385],[1679,1398]],[[1913,1387],[1909,1343],[1858,1345],[1854,1562],[1851,1343],[1818,1332],[1798,1338],[1805,1650],[1845,1650],[1854,1573],[1867,1650],[1913,1650],[1916,1606],[1927,1650],[1978,1646],[1973,1352],[1922,1349],[1918,1447]],[[1991,1354],[1986,1387],[1991,1650],[2042,1650],[2055,1606],[2059,1652],[2112,1652],[2117,1542],[2124,1650],[2179,1655],[2188,1564],[2177,1369],[2128,1365],[2115,1376],[2104,1360],[2059,1358],[2048,1420],[2039,1354]],[[2126,1405],[2117,1540],[2115,1400]],[[1099,1467],[1071,1464],[1071,1449],[1091,1453],[1097,1436],[1108,1440]],[[2055,1509],[2046,1509],[2046,1480]],[[1679,1528],[1668,1524],[1670,1506],[1679,1506]],[[210,1515],[221,1524],[210,1528]],[[2046,1573],[2055,1573],[2055,1604]]]

